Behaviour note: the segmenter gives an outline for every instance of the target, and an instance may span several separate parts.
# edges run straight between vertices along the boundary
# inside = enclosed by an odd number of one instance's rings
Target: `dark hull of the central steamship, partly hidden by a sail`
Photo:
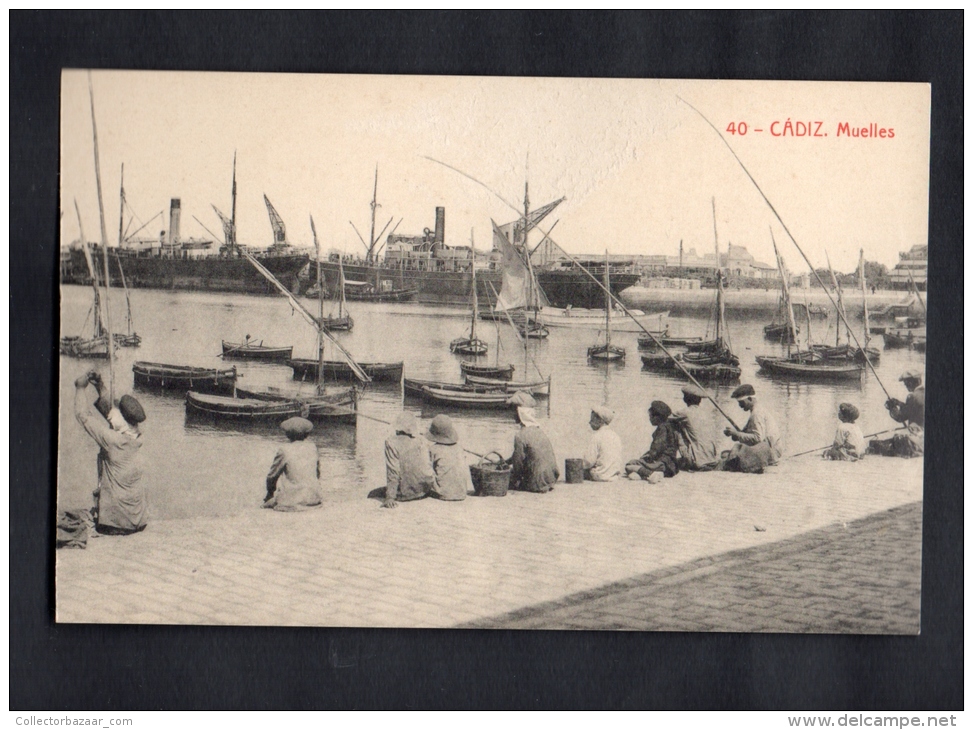
[[[345,263],[345,278],[378,283],[383,288],[413,289],[415,301],[420,304],[468,305],[472,288],[469,271],[425,271],[399,269],[388,266]],[[605,293],[601,287],[581,271],[535,271],[541,289],[555,307],[580,307],[596,309],[605,306]],[[340,278],[337,262],[321,262],[321,276],[329,290],[338,286]],[[612,273],[611,291],[616,297],[624,289],[638,283],[638,274]],[[386,283],[388,282],[388,283]],[[492,307],[502,286],[500,270],[477,269],[476,289],[482,306]]]

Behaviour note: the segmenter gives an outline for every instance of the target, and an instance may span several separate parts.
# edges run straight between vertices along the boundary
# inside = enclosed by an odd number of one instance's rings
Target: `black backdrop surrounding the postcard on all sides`
[[[962,708],[962,12],[9,18],[11,709]],[[930,82],[921,635],[55,624],[62,67]]]

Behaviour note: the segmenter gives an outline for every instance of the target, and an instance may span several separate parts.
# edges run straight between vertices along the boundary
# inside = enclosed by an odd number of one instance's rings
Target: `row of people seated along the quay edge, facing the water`
[[[909,390],[905,402],[886,403],[893,419],[905,424],[904,434],[885,441],[873,440],[866,447],[861,429],[855,423],[858,408],[842,403],[834,443],[824,450],[826,459],[857,461],[866,453],[915,456],[922,453],[924,391],[921,374],[906,372],[900,380]],[[682,389],[684,408],[673,412],[661,400],[649,406],[649,422],[655,427],[648,450],[625,463],[622,442],[610,427],[615,417],[608,406],[591,409],[589,426],[593,431],[583,464],[584,477],[606,482],[625,476],[633,480],[658,483],[680,471],[736,471],[759,474],[778,463],[783,443],[773,416],[757,399],[752,385],[736,388],[731,397],[749,414],[743,428],[727,426],[723,434],[730,448],[720,451],[707,437],[706,418],[700,404],[707,393],[696,385]],[[516,408],[520,429],[514,435],[510,466],[510,489],[548,492],[560,478],[560,470],[550,439],[536,417],[536,403],[527,393],[514,394],[508,405]],[[452,419],[441,414],[432,419],[425,432],[415,416],[402,412],[392,424],[394,433],[385,442],[386,486],[381,492],[382,506],[395,507],[426,497],[459,501],[473,491],[470,468]],[[321,503],[318,485],[320,467],[313,443],[304,443],[312,430],[310,421],[291,418],[282,424],[290,443],[282,446],[267,477],[264,506],[277,510],[306,509]],[[470,452],[472,453],[472,452]],[[376,495],[378,496],[378,495]]]

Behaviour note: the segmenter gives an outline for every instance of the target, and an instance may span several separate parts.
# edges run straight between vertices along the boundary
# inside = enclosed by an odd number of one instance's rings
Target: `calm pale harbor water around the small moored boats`
[[[116,398],[133,392],[132,364],[137,360],[230,367],[240,374],[238,384],[247,389],[279,388],[283,392],[312,392],[311,384],[291,377],[286,365],[224,361],[220,341],[242,342],[250,335],[265,345],[294,346],[294,357],[316,357],[314,330],[277,297],[137,289],[130,293],[135,330],[142,337],[139,348],[121,348],[115,364]],[[731,293],[729,297],[732,298]],[[315,311],[316,302],[306,300]],[[91,331],[91,290],[81,286],[61,288],[61,332],[77,335]],[[330,308],[330,305],[326,305]],[[465,336],[470,317],[461,307],[431,307],[418,304],[350,305],[355,326],[335,336],[362,362],[404,361],[405,377],[459,382],[463,358],[450,354],[449,342]],[[326,309],[327,313],[327,309]],[[670,317],[672,336],[712,334],[711,317]],[[741,382],[754,385],[763,406],[776,418],[784,437],[784,453],[793,454],[829,445],[837,424],[838,404],[849,401],[861,411],[858,421],[865,434],[896,424],[884,408],[886,395],[875,376],[866,371],[863,379],[847,383],[779,381],[758,373],[756,355],[782,354],[785,348],[763,338],[767,314],[728,313],[733,351],[739,356]],[[112,291],[112,324],[125,329],[124,295]],[[804,340],[804,325],[801,340]],[[834,342],[835,318],[812,321],[812,340]],[[856,334],[862,337],[862,326]],[[552,377],[549,399],[538,399],[538,416],[551,437],[563,472],[564,459],[578,458],[591,431],[590,408],[607,403],[616,411],[612,428],[621,436],[626,458],[639,456],[648,447],[652,427],[646,409],[653,400],[663,400],[674,410],[682,407],[681,386],[685,381],[642,369],[637,335],[615,333],[612,343],[627,350],[623,364],[592,364],[587,348],[604,341],[604,332],[551,328],[546,340],[531,341],[525,376],[524,348],[508,324],[480,321],[477,334],[490,345],[480,363],[513,363],[515,380]],[[498,351],[497,343],[500,343]],[[881,348],[881,338],[873,344]],[[341,359],[330,344],[327,359]],[[879,376],[894,397],[904,399],[905,388],[898,377],[906,368],[924,367],[924,355],[910,350],[884,350],[876,366]],[[535,364],[536,363],[536,368]],[[107,381],[104,360],[60,358],[58,505],[87,507],[97,481],[97,448],[74,417],[74,380],[89,369],[101,372]],[[716,388],[717,399],[727,414],[742,427],[746,414],[730,398],[733,385]],[[89,389],[93,398],[93,390]],[[179,519],[198,516],[230,516],[257,509],[265,493],[265,477],[274,454],[285,437],[272,425],[230,426],[187,421],[185,398],[155,392],[135,391],[147,420],[142,424],[142,457],[150,499],[151,519]],[[421,420],[423,429],[440,412],[453,418],[461,444],[481,454],[498,451],[509,456],[517,429],[511,412],[479,411],[424,406],[419,400],[403,399],[399,384],[370,384],[360,403],[355,426],[316,426],[311,438],[317,443],[322,483],[327,499],[364,499],[369,491],[385,484],[384,440],[390,432],[381,421],[392,421],[406,408]],[[711,404],[701,406],[719,443],[726,421]],[[802,457],[808,460],[816,456]],[[476,457],[470,457],[471,462]],[[819,468],[815,466],[814,468]],[[563,478],[563,473],[562,473]],[[754,477],[772,479],[768,477]],[[634,485],[633,485],[634,486]],[[377,505],[376,505],[377,506]]]

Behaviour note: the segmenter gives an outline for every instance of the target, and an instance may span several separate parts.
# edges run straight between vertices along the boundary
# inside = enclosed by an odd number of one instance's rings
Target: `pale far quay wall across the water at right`
[[[777,311],[779,290],[771,289],[733,289],[726,292],[726,311],[732,313],[754,313]],[[792,290],[795,304],[803,304],[805,294],[803,289]],[[845,311],[858,315],[862,311],[861,293],[857,291],[844,292]],[[887,304],[895,304],[909,296],[906,291],[884,290],[868,293],[868,308],[874,311]],[[649,289],[644,286],[630,286],[619,295],[622,303],[627,307],[652,311],[668,309],[671,314],[699,314],[712,310],[716,301],[715,289]],[[925,293],[923,294],[925,299]],[[821,289],[810,289],[807,292],[809,304],[819,304],[826,309],[833,310],[831,300]]]

